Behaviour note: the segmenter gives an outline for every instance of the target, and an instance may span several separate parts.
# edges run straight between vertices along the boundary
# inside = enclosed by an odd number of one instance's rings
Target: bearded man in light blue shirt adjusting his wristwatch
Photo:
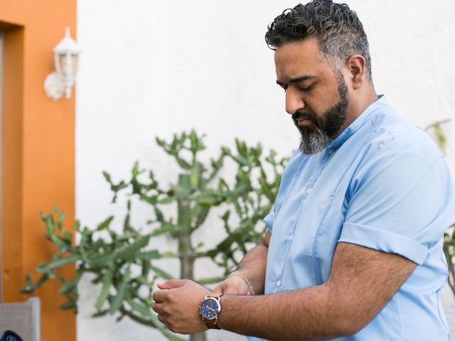
[[[299,4],[266,40],[301,134],[269,230],[213,293],[159,285],[159,320],[268,340],[449,340],[439,299],[455,210],[449,170],[375,93],[357,15],[331,0]]]

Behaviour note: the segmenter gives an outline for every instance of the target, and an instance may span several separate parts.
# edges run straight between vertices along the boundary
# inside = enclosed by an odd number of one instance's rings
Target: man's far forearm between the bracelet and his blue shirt
[[[245,254],[234,271],[245,276],[257,294],[264,293],[269,239],[270,234],[267,233],[261,243]]]

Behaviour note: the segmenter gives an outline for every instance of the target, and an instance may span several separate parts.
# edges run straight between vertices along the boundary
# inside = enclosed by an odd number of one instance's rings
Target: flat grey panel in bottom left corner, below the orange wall
[[[0,335],[13,330],[24,341],[41,341],[41,305],[37,297],[26,302],[0,304]]]

